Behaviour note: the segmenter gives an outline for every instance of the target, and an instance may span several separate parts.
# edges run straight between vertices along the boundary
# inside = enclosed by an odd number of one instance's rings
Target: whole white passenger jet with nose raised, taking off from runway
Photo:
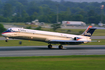
[[[60,44],[58,48],[63,49],[62,45],[78,45],[91,42],[91,36],[95,30],[95,27],[88,26],[81,35],[73,35],[12,27],[3,32],[2,36],[5,37],[5,42],[8,42],[9,38],[42,41],[49,44],[49,49],[52,48],[52,44]]]

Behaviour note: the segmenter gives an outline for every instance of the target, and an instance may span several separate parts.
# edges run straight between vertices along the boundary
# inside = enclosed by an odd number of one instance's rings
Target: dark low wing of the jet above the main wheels
[[[77,45],[82,43],[88,43],[89,41],[76,41],[76,40],[50,40],[48,43],[50,44],[62,44],[62,45]]]

